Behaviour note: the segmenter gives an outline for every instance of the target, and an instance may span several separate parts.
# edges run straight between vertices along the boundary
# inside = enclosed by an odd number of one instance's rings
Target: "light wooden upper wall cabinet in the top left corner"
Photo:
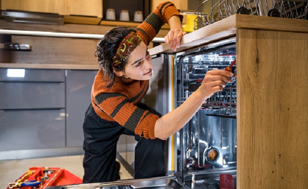
[[[102,0],[2,0],[1,9],[102,18]]]

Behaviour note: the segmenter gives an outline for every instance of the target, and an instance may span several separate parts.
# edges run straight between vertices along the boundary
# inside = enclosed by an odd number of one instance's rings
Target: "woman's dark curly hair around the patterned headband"
[[[113,57],[117,52],[117,49],[122,42],[122,40],[132,31],[134,28],[130,27],[117,27],[113,28],[97,43],[97,49],[95,51],[95,56],[97,57],[99,66],[104,71],[105,79],[108,81],[106,87],[111,87],[117,76],[114,73],[114,69],[117,71],[123,71],[125,65],[127,64],[127,59],[113,67]]]

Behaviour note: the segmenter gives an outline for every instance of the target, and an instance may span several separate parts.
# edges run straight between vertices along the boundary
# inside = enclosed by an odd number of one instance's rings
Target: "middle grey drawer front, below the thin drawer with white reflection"
[[[0,82],[0,110],[65,108],[65,83]]]

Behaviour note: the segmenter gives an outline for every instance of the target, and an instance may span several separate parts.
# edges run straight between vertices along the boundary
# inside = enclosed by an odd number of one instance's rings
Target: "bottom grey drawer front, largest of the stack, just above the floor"
[[[65,147],[65,111],[0,111],[0,144],[0,151]]]

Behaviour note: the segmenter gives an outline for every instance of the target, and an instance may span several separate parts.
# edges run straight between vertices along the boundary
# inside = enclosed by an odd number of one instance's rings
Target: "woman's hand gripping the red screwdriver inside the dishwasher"
[[[230,71],[222,69],[210,70],[203,78],[199,89],[204,97],[208,99],[213,96],[215,92],[222,91],[227,82],[232,82],[231,76],[233,76],[233,73]]]

